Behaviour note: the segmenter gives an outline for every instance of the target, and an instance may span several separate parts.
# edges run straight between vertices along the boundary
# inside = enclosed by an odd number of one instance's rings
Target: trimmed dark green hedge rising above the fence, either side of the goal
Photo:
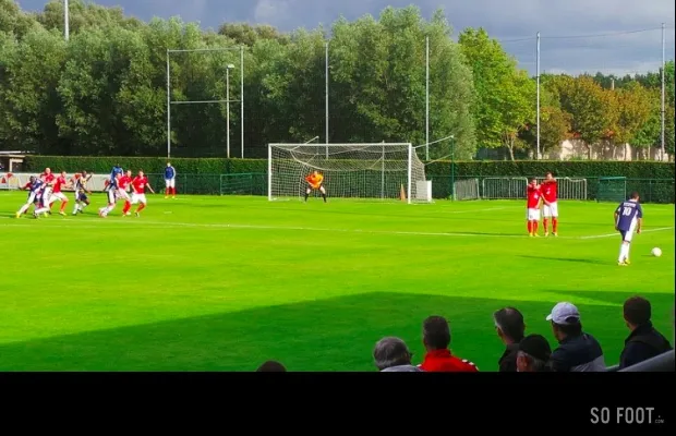
[[[179,173],[183,174],[236,174],[267,172],[266,159],[171,159]],[[62,157],[28,156],[24,170],[40,171],[50,167],[55,171],[88,170],[107,173],[114,165],[123,168],[143,169],[148,173],[161,173],[167,165],[166,158],[158,157]],[[450,161],[437,161],[426,166],[428,177],[450,174]],[[629,179],[674,179],[674,162],[655,161],[457,161],[455,174],[480,177],[542,177],[552,171],[557,177],[626,177]]]

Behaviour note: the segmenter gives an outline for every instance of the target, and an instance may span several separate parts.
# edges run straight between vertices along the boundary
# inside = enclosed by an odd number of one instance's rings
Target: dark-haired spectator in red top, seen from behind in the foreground
[[[419,365],[422,371],[432,373],[478,373],[472,362],[452,355],[450,349],[450,326],[442,316],[430,316],[423,323],[423,344],[425,358]]]

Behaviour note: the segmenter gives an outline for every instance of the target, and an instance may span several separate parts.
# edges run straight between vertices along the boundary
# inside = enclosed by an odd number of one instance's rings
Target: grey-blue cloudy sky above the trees
[[[17,0],[24,10],[41,10],[46,0]],[[541,33],[543,72],[637,73],[662,62],[662,23],[666,58],[674,59],[674,0],[96,0],[120,5],[129,15],[180,15],[217,28],[224,22],[271,24],[282,31],[330,25],[376,15],[387,5],[418,4],[430,17],[443,8],[456,29],[484,27],[503,41],[521,68],[535,71],[535,35]],[[648,31],[649,29],[649,31]],[[639,32],[648,31],[648,32]]]

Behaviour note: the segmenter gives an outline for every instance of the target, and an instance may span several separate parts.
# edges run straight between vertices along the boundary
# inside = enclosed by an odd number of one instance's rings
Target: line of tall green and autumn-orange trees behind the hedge
[[[482,28],[457,38],[442,11],[415,7],[336,21],[330,29],[281,33],[226,23],[204,31],[180,19],[145,23],[122,10],[71,0],[27,13],[0,0],[0,149],[62,156],[162,156],[167,144],[167,50],[244,47],[245,157],[273,142],[324,141],[325,44],[329,49],[329,141],[425,143],[425,38],[430,40],[430,138],[455,136],[456,158],[535,146],[535,80]],[[330,31],[330,32],[329,32]],[[329,36],[330,35],[330,36]],[[241,100],[238,50],[173,53],[171,100]],[[666,147],[674,150],[674,61],[665,70]],[[659,146],[661,71],[613,77],[543,75],[541,147]],[[224,156],[226,105],[174,105],[172,155]],[[230,104],[240,149],[239,102]],[[448,156],[449,143],[431,148]],[[239,153],[239,152],[237,152]],[[591,150],[590,150],[591,153]],[[233,156],[237,156],[233,155]]]

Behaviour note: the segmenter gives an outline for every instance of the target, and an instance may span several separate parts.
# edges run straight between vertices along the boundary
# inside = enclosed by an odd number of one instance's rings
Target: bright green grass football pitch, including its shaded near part
[[[69,193],[72,197],[72,194]],[[26,194],[0,192],[0,371],[375,371],[384,336],[423,354],[421,325],[443,315],[451,349],[497,371],[494,311],[545,320],[578,305],[616,364],[621,304],[648,298],[672,338],[674,205],[644,205],[631,265],[617,266],[614,204],[559,202],[559,237],[528,238],[524,201],[426,205],[311,198],[148,195],[121,205],[14,218]],[[31,209],[31,213],[32,214]],[[134,209],[132,209],[134,210]],[[542,233],[542,231],[541,231]],[[651,249],[663,250],[652,257]]]

